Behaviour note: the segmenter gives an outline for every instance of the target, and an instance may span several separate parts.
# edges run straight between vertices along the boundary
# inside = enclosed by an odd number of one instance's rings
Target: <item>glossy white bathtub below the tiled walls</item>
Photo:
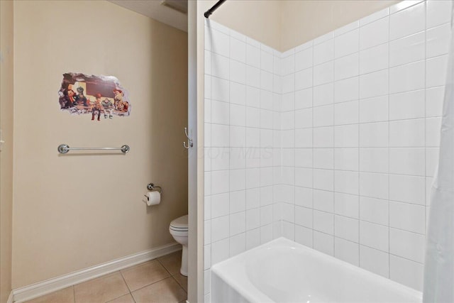
[[[211,302],[422,302],[422,294],[278,238],[211,267]]]

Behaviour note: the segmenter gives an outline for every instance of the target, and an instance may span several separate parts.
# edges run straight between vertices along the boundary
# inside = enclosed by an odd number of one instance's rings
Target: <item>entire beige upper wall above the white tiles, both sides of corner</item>
[[[204,11],[217,1],[200,1]],[[285,51],[391,6],[399,0],[231,0],[210,18]]]

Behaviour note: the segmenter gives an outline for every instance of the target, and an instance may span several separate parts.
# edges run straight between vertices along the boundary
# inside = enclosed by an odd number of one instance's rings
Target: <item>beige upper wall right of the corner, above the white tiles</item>
[[[285,51],[294,48],[397,2],[399,1],[282,1],[280,50]]]

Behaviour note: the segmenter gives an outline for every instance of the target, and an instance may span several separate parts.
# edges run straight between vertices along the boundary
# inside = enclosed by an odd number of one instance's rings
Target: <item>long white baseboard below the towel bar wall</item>
[[[95,277],[107,275],[111,272],[116,272],[117,270],[122,270],[123,268],[128,268],[130,266],[143,263],[148,260],[153,260],[155,258],[161,257],[162,255],[167,255],[181,249],[182,246],[180,244],[176,242],[170,243],[165,246],[145,250],[141,253],[135,253],[133,255],[128,255],[126,257],[119,258],[107,263],[92,266],[91,268],[86,268],[77,272],[71,272],[67,275],[61,275],[60,277],[54,277],[52,279],[38,282],[32,285],[27,285],[25,287],[16,288],[15,290],[11,291],[11,301],[8,300],[8,303],[24,302],[35,297],[40,297],[43,294],[62,290],[65,287],[70,287],[71,285],[76,285],[87,280],[92,280]]]

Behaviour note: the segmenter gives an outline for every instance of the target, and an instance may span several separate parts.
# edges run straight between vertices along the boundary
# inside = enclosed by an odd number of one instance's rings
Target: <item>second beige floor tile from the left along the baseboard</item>
[[[128,292],[128,287],[120,272],[74,285],[76,303],[104,303],[121,297],[123,294],[128,294]]]

